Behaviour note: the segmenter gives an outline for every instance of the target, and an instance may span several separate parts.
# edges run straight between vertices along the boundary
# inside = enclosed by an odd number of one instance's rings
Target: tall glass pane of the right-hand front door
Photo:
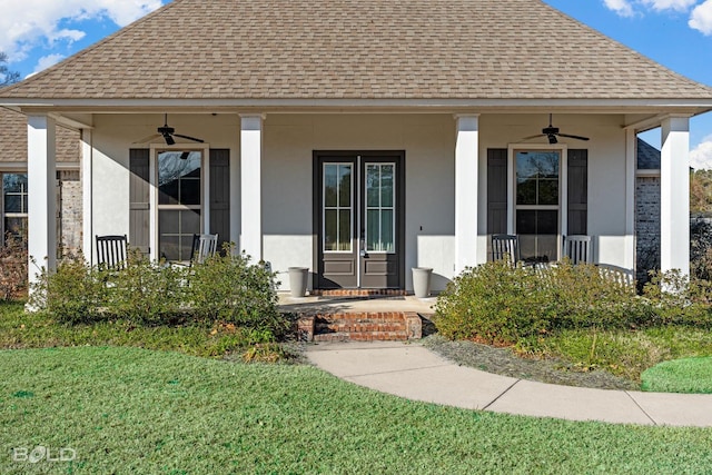
[[[366,250],[395,253],[395,166],[366,165]]]

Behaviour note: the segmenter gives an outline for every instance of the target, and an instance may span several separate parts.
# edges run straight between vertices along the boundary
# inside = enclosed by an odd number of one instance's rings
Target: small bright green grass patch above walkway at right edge
[[[663,362],[643,372],[643,390],[661,393],[712,393],[712,358]]]

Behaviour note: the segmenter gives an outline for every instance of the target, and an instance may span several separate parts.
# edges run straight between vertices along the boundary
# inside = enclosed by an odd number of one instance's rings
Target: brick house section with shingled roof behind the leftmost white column
[[[27,232],[28,188],[27,117],[0,107],[0,236]],[[58,251],[82,246],[82,200],[79,178],[79,132],[57,128]],[[0,245],[2,245],[0,239]]]

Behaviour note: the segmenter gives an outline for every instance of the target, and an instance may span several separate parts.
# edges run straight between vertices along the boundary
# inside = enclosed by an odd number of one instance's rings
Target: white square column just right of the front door
[[[477,264],[479,116],[457,117],[455,144],[455,274]]]

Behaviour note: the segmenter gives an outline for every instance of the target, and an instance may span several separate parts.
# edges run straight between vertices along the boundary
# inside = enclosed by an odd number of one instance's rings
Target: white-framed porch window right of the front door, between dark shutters
[[[522,259],[558,259],[561,151],[515,150],[515,232]]]

